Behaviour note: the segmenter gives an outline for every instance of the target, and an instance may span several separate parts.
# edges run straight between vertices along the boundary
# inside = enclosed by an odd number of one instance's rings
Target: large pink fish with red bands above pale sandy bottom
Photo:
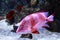
[[[26,16],[17,28],[17,33],[34,33],[39,34],[38,29],[49,27],[46,23],[53,21],[54,16],[48,17],[48,12],[37,12]]]

